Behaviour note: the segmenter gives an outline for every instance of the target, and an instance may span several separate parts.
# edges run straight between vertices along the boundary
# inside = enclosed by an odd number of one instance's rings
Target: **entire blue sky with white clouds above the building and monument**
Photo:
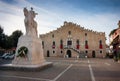
[[[0,25],[5,34],[15,30],[25,34],[24,7],[33,7],[38,13],[35,20],[39,34],[56,30],[67,21],[105,32],[107,44],[110,31],[120,20],[120,0],[0,0]]]

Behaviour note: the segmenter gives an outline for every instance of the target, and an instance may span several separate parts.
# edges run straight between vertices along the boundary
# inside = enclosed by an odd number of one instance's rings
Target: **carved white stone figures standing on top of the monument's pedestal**
[[[26,27],[26,35],[29,36],[37,36],[37,22],[34,20],[37,13],[33,11],[33,8],[31,7],[31,10],[28,11],[27,8],[23,9],[24,11],[24,23]]]

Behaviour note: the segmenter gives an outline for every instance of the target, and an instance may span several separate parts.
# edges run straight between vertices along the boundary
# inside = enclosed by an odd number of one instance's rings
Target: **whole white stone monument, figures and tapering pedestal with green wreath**
[[[12,67],[10,67],[32,70],[52,65],[51,62],[46,62],[44,59],[42,40],[37,36],[37,23],[34,20],[37,13],[33,11],[33,8],[29,11],[24,8],[23,11],[26,35],[19,38],[15,58],[12,61]]]

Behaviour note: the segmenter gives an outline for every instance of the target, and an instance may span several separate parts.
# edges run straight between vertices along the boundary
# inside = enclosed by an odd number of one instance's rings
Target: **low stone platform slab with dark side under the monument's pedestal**
[[[52,62],[44,62],[37,65],[15,65],[15,64],[3,64],[0,65],[0,70],[13,70],[13,71],[40,71],[42,69],[53,66]]]

